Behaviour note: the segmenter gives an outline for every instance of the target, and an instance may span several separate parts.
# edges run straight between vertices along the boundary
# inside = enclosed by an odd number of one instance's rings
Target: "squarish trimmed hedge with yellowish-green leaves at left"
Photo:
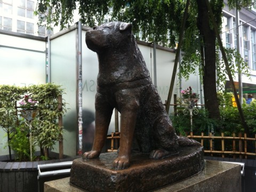
[[[59,101],[58,96],[65,94],[64,90],[59,85],[51,83],[43,85],[33,85],[29,87],[17,87],[9,85],[0,86],[0,127],[7,132],[8,141],[12,141],[16,134],[19,133],[19,138],[22,141],[22,130],[28,124],[25,124],[25,119],[18,118],[17,114],[17,102],[20,101],[24,95],[33,95],[33,100],[38,101],[39,118],[34,119],[31,122],[34,145],[38,145],[41,148],[53,148],[53,145],[59,140],[59,135],[62,134],[63,127],[59,127],[58,118],[65,115],[67,112],[66,102],[62,99],[60,101],[60,107],[58,108]],[[19,108],[19,107],[18,107]],[[20,127],[15,130],[15,127]],[[24,135],[23,135],[24,136]],[[13,137],[13,138],[12,138]],[[16,136],[15,136],[16,137]],[[18,137],[18,136],[17,136]],[[14,146],[17,153],[21,153],[15,141],[12,141],[11,145]],[[25,145],[24,142],[21,142]],[[9,144],[10,146],[10,144]],[[19,150],[18,150],[19,149]],[[23,151],[24,154],[25,151]],[[11,157],[11,149],[9,148],[9,154]],[[22,155],[18,155],[21,159]],[[23,157],[22,157],[23,158]]]

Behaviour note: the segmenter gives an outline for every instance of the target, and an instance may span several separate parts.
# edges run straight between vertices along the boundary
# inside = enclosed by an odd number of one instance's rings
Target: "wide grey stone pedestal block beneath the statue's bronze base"
[[[45,182],[45,192],[82,192],[85,190],[79,189],[70,185],[70,178],[59,179]],[[151,181],[154,183],[154,181]],[[203,171],[193,177],[176,182],[172,185],[155,189],[157,192],[241,192],[241,166],[232,163],[205,161]],[[108,190],[107,190],[108,191]]]

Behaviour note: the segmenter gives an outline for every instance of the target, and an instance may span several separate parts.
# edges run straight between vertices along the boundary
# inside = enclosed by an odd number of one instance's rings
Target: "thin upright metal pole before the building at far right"
[[[236,42],[237,42],[237,53],[240,53],[240,42],[239,42],[239,11],[236,8]],[[241,105],[243,104],[243,82],[242,82],[242,74],[241,74],[241,66],[240,63],[237,63],[238,67],[238,92],[239,92],[239,101]]]

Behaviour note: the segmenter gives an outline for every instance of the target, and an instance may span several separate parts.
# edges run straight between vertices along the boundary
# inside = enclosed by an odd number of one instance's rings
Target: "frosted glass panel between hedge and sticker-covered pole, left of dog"
[[[51,82],[62,85],[67,94],[62,95],[70,108],[63,117],[63,153],[76,155],[76,30],[51,40]],[[59,150],[55,147],[55,150]]]

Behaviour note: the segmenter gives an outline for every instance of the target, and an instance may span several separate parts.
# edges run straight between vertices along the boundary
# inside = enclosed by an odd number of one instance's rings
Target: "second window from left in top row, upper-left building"
[[[34,19],[34,2],[29,0],[19,0],[18,15]]]

